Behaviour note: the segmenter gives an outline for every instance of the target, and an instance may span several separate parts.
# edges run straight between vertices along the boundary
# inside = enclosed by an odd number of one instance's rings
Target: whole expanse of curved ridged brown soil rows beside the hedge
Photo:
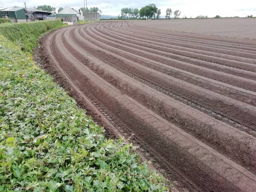
[[[47,71],[181,187],[255,191],[256,43],[126,21],[57,29],[41,43]]]

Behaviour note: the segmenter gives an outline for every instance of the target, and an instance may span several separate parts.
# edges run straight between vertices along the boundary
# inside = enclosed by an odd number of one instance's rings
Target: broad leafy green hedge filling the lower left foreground
[[[108,140],[32,61],[32,36],[0,35],[0,191],[166,191],[132,144]]]

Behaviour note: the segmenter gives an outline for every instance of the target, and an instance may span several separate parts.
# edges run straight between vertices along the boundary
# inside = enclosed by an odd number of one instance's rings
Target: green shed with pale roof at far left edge
[[[0,18],[9,18],[12,22],[26,22],[26,10],[23,7],[12,7],[0,10]]]

